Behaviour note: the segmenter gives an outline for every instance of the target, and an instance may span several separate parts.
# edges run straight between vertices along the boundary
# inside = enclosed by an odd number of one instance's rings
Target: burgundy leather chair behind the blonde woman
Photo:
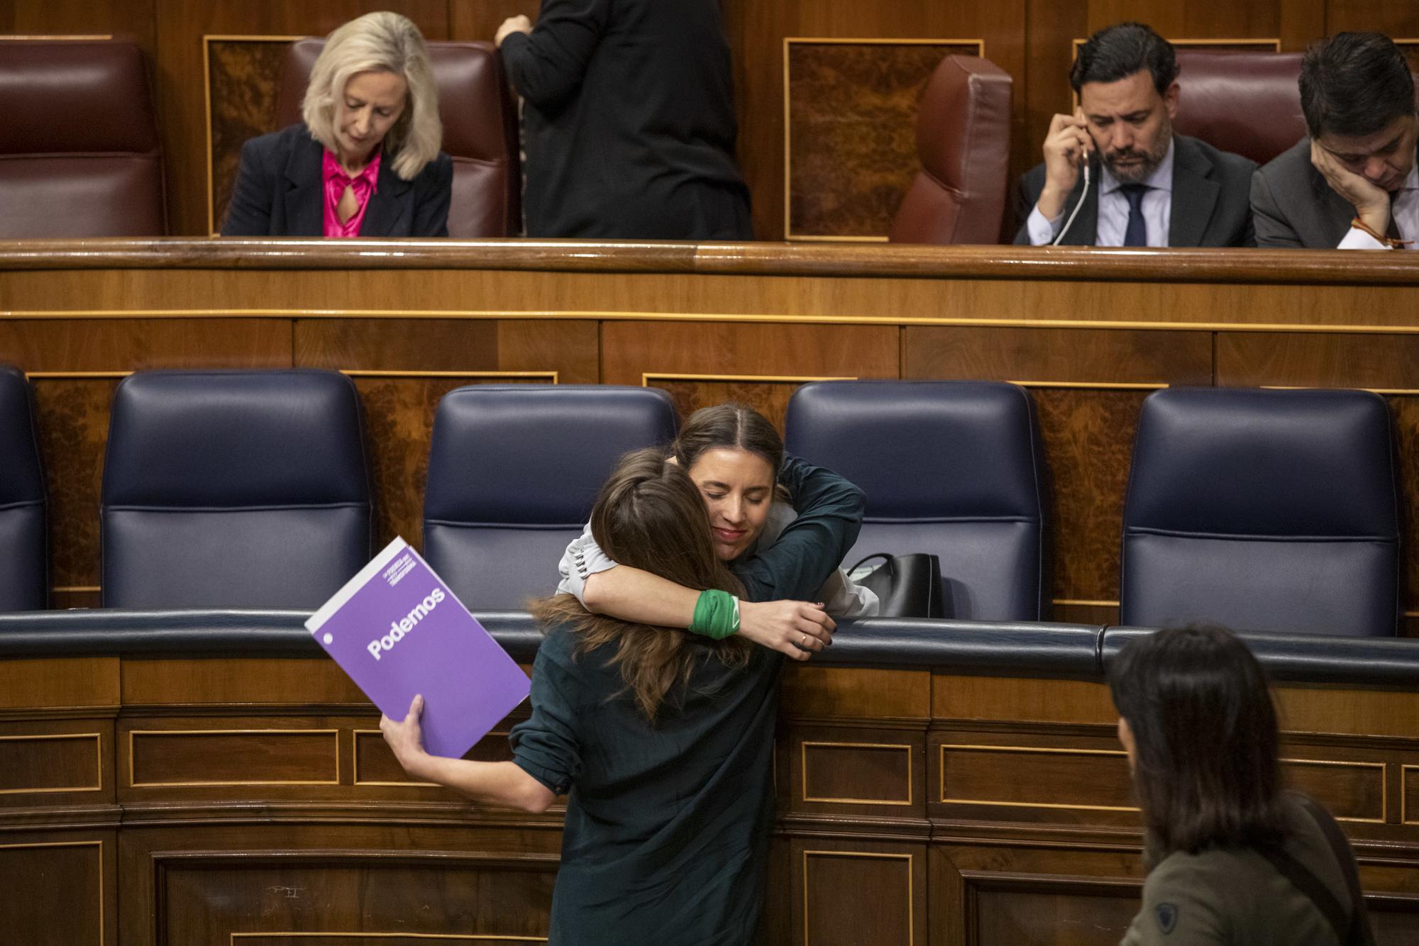
[[[301,99],[325,40],[298,40],[281,67],[277,125],[301,121]],[[522,230],[517,105],[491,43],[430,43],[443,150],[453,157],[448,235],[514,237]]]

